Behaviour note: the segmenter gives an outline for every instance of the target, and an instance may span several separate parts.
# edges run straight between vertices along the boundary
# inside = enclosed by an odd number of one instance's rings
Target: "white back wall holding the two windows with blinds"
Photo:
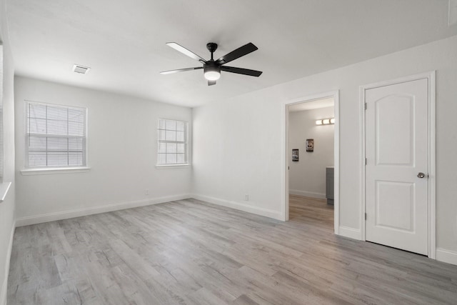
[[[191,167],[156,169],[156,129],[158,118],[190,122],[191,109],[24,77],[15,92],[18,225],[188,197]],[[90,171],[21,173],[25,100],[88,108]]]

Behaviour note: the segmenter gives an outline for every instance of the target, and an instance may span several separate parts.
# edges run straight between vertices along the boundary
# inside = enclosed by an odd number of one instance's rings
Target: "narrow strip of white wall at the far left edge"
[[[9,48],[5,4],[0,0],[0,41],[3,45],[3,69],[0,75],[0,104],[3,106],[4,183],[12,182],[8,194],[0,202],[0,304],[6,304],[9,258],[15,226],[14,199],[14,61]]]

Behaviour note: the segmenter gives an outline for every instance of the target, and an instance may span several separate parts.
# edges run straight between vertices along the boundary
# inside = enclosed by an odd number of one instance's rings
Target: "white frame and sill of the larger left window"
[[[59,108],[64,108],[64,109],[77,109],[77,110],[84,110],[84,136],[73,136],[73,135],[57,135],[57,134],[36,134],[36,133],[29,133],[29,116],[27,115],[28,113],[28,108],[29,104],[36,104],[36,105],[42,105],[42,106],[51,106],[51,107],[59,107]],[[89,170],[89,162],[88,162],[88,130],[87,130],[87,121],[88,121],[88,109],[87,107],[84,106],[70,106],[70,105],[64,105],[64,104],[54,104],[54,103],[48,103],[48,102],[43,102],[43,101],[31,101],[31,100],[24,100],[24,131],[25,131],[25,145],[24,145],[24,169],[21,170],[21,174],[51,174],[54,171],[59,171],[62,173],[74,173],[74,172],[79,172],[79,171],[87,171]],[[46,121],[48,121],[48,118],[46,117]],[[68,124],[68,120],[67,120]],[[29,164],[29,137],[30,136],[44,136],[46,138],[67,138],[67,139],[82,139],[82,164],[81,165],[58,165],[58,166],[30,166]],[[67,148],[67,151],[69,149]],[[46,149],[46,153],[48,150]]]

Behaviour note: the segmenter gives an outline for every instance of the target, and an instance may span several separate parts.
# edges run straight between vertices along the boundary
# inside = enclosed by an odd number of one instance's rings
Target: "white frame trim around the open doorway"
[[[316,99],[325,99],[333,97],[333,112],[335,117],[335,124],[334,124],[334,176],[335,176],[335,183],[334,183],[334,199],[333,199],[333,219],[334,219],[334,231],[335,234],[339,234],[339,188],[340,188],[340,133],[339,133],[339,126],[340,126],[340,111],[339,111],[339,91],[327,91],[320,94],[313,94],[309,96],[303,96],[299,99],[293,99],[290,101],[284,101],[282,105],[283,111],[283,143],[281,149],[282,151],[282,161],[283,161],[283,175],[282,175],[282,202],[281,202],[281,219],[283,221],[288,221],[288,213],[289,213],[289,196],[288,196],[288,189],[289,189],[289,177],[288,177],[288,161],[290,158],[289,149],[288,149],[288,106],[293,104],[301,104],[306,103],[308,101],[315,101]]]

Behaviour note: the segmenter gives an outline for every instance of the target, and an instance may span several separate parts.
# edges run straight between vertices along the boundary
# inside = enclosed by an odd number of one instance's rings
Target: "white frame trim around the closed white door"
[[[436,71],[430,71],[422,74],[392,79],[388,81],[380,81],[373,84],[359,86],[359,101],[360,101],[360,124],[361,124],[361,194],[360,194],[360,228],[361,240],[366,241],[365,236],[365,209],[366,209],[366,172],[365,172],[365,91],[381,86],[390,86],[401,84],[408,81],[417,81],[419,79],[428,80],[428,257],[436,259],[436,131],[435,131],[435,74]]]

